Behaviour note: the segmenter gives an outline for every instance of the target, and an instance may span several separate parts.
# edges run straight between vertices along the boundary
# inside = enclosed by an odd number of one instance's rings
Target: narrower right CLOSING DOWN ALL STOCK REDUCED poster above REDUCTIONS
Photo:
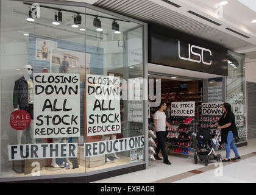
[[[119,77],[87,74],[87,136],[121,133]]]

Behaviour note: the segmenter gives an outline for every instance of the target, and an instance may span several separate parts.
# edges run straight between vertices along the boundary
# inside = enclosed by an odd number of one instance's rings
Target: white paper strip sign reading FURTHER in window
[[[77,158],[77,143],[23,144],[8,146],[9,161],[41,158]]]

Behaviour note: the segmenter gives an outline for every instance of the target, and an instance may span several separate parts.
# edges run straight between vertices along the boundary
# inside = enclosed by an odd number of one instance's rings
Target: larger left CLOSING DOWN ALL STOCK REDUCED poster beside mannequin
[[[34,73],[34,138],[80,137],[79,74]]]

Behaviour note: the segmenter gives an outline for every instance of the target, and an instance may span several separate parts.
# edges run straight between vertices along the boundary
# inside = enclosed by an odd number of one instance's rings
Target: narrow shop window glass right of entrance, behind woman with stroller
[[[232,105],[238,128],[239,141],[246,141],[246,104],[245,104],[245,73],[244,56],[228,52],[227,95],[226,101]]]

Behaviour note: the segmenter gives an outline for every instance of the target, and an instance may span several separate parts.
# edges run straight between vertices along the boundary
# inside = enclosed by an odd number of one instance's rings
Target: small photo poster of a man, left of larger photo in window
[[[35,48],[35,59],[50,61],[52,49],[57,49],[57,42],[37,38]]]

